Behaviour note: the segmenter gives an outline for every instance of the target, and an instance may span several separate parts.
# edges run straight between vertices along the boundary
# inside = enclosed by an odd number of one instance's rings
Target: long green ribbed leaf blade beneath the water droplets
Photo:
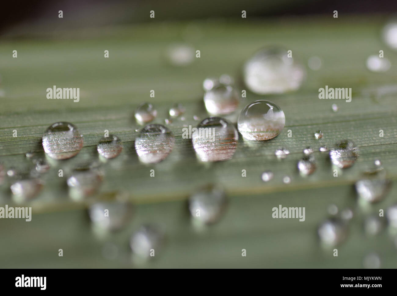
[[[25,153],[42,151],[42,133],[61,120],[79,128],[84,147],[73,159],[51,163],[43,177],[43,191],[31,202],[31,222],[1,219],[0,267],[142,266],[131,262],[128,250],[130,233],[141,222],[164,226],[167,236],[164,249],[146,267],[361,267],[362,257],[372,251],[380,255],[383,267],[396,267],[396,250],[387,230],[368,238],[362,229],[365,215],[396,201],[396,189],[382,203],[362,207],[353,184],[376,158],[382,160],[393,183],[397,179],[397,53],[380,39],[381,17],[325,19],[162,23],[4,39],[0,43],[0,88],[5,91],[0,98],[2,163],[27,170],[31,164]],[[187,33],[191,31],[196,33]],[[186,68],[169,66],[164,52],[169,44],[181,41],[199,49],[201,57]],[[292,50],[304,65],[309,57],[319,56],[323,66],[315,72],[307,69],[306,81],[297,92],[264,97],[247,92],[241,108],[266,98],[283,109],[286,126],[278,137],[249,143],[240,135],[233,159],[200,163],[191,142],[181,135],[184,124],[197,125],[193,115],[207,116],[203,79],[228,73],[236,78],[239,89],[245,89],[240,77],[243,62],[260,47],[272,44]],[[12,50],[18,51],[18,58],[12,58]],[[109,50],[109,58],[104,58],[104,50]],[[379,50],[392,63],[385,74],[365,68],[366,58]],[[46,99],[46,89],[52,85],[79,87],[80,102]],[[352,88],[351,103],[318,99],[318,89],[325,85]],[[149,97],[151,89],[154,98]],[[186,120],[170,126],[175,147],[160,164],[141,164],[135,153],[133,141],[139,126],[133,110],[144,101],[156,105],[157,123],[164,122],[172,103],[187,108]],[[338,112],[331,110],[332,103],[338,104]],[[228,118],[235,123],[237,115]],[[12,137],[14,129],[16,138]],[[316,140],[313,133],[318,129],[324,137]],[[379,137],[380,129],[384,137]],[[137,206],[131,225],[98,238],[86,217],[86,203],[72,201],[65,183],[73,166],[97,159],[95,146],[104,130],[118,135],[124,149],[103,165],[106,176],[100,193],[126,191]],[[292,137],[287,137],[287,130],[292,130]],[[296,163],[304,147],[318,151],[341,139],[359,147],[360,157],[352,168],[334,178],[326,154],[315,152],[317,171],[306,178],[299,176]],[[276,159],[274,151],[279,147],[291,151],[287,159]],[[64,178],[58,177],[60,168]],[[150,178],[151,169],[154,178]],[[243,169],[246,178],[241,176]],[[260,179],[264,170],[274,172],[274,179],[266,184]],[[283,184],[285,175],[291,176],[291,184]],[[222,184],[230,202],[218,224],[198,232],[190,222],[185,199],[208,182]],[[6,184],[2,191],[2,203],[11,205]],[[316,238],[316,226],[327,217],[331,203],[355,209],[349,238],[337,247],[338,257],[320,248]],[[279,204],[306,207],[306,221],[272,219],[272,208]],[[117,259],[102,257],[105,242],[118,246]],[[60,248],[64,257],[58,257]],[[241,256],[243,248],[247,257]]]

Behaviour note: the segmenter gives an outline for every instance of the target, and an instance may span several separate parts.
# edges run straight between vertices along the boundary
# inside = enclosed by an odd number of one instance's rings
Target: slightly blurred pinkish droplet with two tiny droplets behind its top
[[[208,113],[229,114],[239,105],[239,96],[232,86],[218,83],[204,94],[204,104]]]

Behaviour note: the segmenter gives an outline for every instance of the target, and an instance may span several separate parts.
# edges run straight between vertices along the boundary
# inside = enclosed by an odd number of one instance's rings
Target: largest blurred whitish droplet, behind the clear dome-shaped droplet
[[[247,87],[254,93],[285,93],[299,89],[304,69],[287,56],[287,50],[264,48],[244,65],[243,76]]]

